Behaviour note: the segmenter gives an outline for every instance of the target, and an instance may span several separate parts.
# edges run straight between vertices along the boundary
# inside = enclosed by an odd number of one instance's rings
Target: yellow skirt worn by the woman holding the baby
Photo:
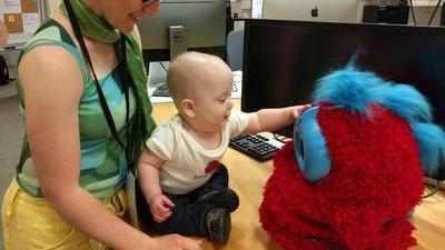
[[[128,220],[125,190],[100,200],[109,211]],[[43,198],[34,198],[20,190],[16,180],[4,194],[1,217],[6,250],[108,249],[68,224]]]

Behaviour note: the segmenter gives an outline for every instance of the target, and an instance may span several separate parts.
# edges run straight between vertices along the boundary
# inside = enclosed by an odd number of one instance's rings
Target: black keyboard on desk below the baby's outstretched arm
[[[269,138],[261,134],[236,136],[230,139],[229,146],[258,161],[269,160],[278,150],[270,143]]]

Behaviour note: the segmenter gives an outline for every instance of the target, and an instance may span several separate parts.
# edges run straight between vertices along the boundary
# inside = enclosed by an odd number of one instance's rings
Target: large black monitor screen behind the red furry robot
[[[245,26],[241,110],[310,101],[318,79],[352,56],[359,70],[413,84],[445,127],[445,28],[248,20]],[[291,137],[293,127],[276,131]]]

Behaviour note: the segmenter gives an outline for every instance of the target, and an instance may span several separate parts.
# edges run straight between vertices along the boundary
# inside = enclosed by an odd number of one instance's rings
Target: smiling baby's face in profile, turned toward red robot
[[[227,70],[215,70],[205,78],[196,94],[196,123],[207,132],[219,132],[231,111],[233,76]],[[204,79],[202,79],[204,80]]]

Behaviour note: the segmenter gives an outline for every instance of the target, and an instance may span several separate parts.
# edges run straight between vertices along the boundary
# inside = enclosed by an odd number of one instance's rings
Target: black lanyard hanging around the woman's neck
[[[92,76],[95,78],[95,86],[96,86],[96,89],[97,89],[97,92],[98,92],[98,96],[99,96],[99,101],[100,101],[100,106],[102,108],[105,118],[107,119],[107,124],[108,124],[108,127],[109,127],[109,129],[111,131],[112,137],[116,139],[118,144],[126,150],[127,163],[129,164],[129,167],[132,167],[132,160],[129,159],[130,153],[129,153],[128,143],[130,143],[130,142],[127,140],[127,146],[125,146],[122,143],[122,141],[120,140],[120,138],[119,138],[119,133],[118,133],[118,131],[116,129],[115,120],[112,119],[110,109],[108,108],[108,104],[107,104],[107,100],[106,100],[106,98],[103,96],[103,91],[100,88],[100,84],[99,84],[99,81],[97,79],[95,69],[92,68],[91,58],[90,58],[90,54],[88,53],[87,47],[85,44],[83,36],[81,33],[81,30],[80,30],[80,27],[79,27],[79,22],[77,20],[75,11],[72,10],[72,7],[71,7],[71,3],[69,2],[69,0],[63,0],[63,3],[66,6],[66,8],[67,8],[68,18],[69,18],[69,20],[71,22],[75,36],[76,36],[77,40],[79,41],[80,48],[82,50],[82,54],[83,54],[85,59],[87,60],[87,63],[90,67]],[[127,72],[127,69],[126,69],[127,68],[126,36],[122,34],[122,33],[120,33],[120,48],[121,48],[121,53],[120,53],[120,63],[118,66],[118,72],[119,72],[119,77],[120,77],[121,82],[122,82],[123,94],[125,94],[125,99],[126,99],[126,124],[125,126],[127,128],[127,138],[128,138],[128,136],[129,136],[129,120],[130,120],[130,118],[129,118],[129,116],[130,116],[130,112],[129,112],[129,108],[130,108],[129,88],[130,88],[131,83],[129,81],[130,79],[128,77],[128,72]],[[117,44],[115,46],[115,49],[116,49],[116,51],[118,51]],[[119,54],[119,53],[117,53],[117,54]]]

